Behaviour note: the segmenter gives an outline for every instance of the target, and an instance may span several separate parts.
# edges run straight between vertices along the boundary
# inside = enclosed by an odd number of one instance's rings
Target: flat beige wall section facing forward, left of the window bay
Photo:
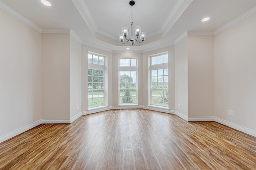
[[[43,119],[70,119],[69,49],[69,33],[42,33]]]

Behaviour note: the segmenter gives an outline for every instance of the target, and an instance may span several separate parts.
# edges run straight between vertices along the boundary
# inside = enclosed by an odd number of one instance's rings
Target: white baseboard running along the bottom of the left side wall
[[[42,124],[42,120],[38,120],[38,121],[36,121],[34,123],[30,123],[29,125],[26,125],[24,127],[21,127],[19,129],[14,130],[14,131],[12,131],[10,133],[7,133],[7,134],[5,134],[3,136],[0,136],[0,143],[3,142],[3,141],[6,141],[6,140],[8,140],[8,139],[10,139],[10,138],[12,138],[12,137],[14,137],[16,135],[19,135],[20,133],[23,133],[23,132],[25,132],[25,131],[27,131],[29,129],[32,129],[33,127],[36,127],[36,126],[38,126],[40,124]]]

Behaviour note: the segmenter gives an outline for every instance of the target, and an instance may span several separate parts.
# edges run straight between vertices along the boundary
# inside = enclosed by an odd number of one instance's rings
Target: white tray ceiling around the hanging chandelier
[[[82,43],[107,51],[125,51],[130,42],[118,41],[121,28],[129,27],[129,0],[2,0],[38,25],[42,32],[72,29]],[[214,34],[218,28],[256,7],[256,0],[135,0],[133,26],[141,26],[146,40],[130,51],[149,51],[172,45],[185,31]],[[202,18],[210,17],[202,22]],[[134,30],[132,30],[134,31]]]

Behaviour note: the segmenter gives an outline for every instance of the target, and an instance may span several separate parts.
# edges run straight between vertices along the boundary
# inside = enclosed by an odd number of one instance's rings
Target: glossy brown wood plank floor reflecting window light
[[[216,122],[114,109],[0,143],[0,170],[256,169],[256,138]]]

